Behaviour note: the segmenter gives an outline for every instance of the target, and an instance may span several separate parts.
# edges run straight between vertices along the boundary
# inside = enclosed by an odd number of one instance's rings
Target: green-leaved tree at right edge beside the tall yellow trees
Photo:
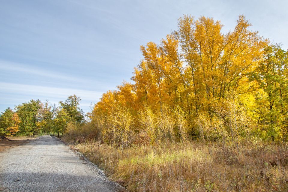
[[[281,128],[285,127],[283,120],[288,112],[287,67],[288,52],[279,45],[270,45],[265,47],[264,59],[252,75],[265,93],[259,99],[258,123],[272,140],[280,139],[286,132]]]

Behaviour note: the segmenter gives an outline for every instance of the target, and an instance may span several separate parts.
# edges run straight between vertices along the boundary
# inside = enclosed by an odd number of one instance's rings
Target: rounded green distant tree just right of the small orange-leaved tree
[[[30,100],[29,103],[23,103],[15,107],[21,122],[19,124],[20,135],[32,135],[37,132],[36,123],[40,120],[39,109],[41,109],[40,100]]]

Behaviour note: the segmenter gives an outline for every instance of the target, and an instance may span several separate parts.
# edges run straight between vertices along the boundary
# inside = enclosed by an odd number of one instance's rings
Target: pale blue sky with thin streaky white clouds
[[[288,48],[288,1],[0,0],[0,112],[48,100],[101,95],[131,81],[140,46],[159,43],[184,14],[220,20],[233,30],[244,14],[254,31]]]

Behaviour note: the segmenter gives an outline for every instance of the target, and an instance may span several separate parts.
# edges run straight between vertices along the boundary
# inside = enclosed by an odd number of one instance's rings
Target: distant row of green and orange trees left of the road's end
[[[64,133],[68,123],[80,124],[84,121],[84,113],[79,108],[81,98],[69,96],[59,106],[30,100],[14,108],[7,108],[0,116],[0,135],[25,136]]]

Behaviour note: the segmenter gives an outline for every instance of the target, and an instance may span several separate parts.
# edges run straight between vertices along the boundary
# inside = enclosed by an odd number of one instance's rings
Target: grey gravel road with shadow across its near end
[[[123,190],[95,164],[49,135],[0,153],[0,191]]]

